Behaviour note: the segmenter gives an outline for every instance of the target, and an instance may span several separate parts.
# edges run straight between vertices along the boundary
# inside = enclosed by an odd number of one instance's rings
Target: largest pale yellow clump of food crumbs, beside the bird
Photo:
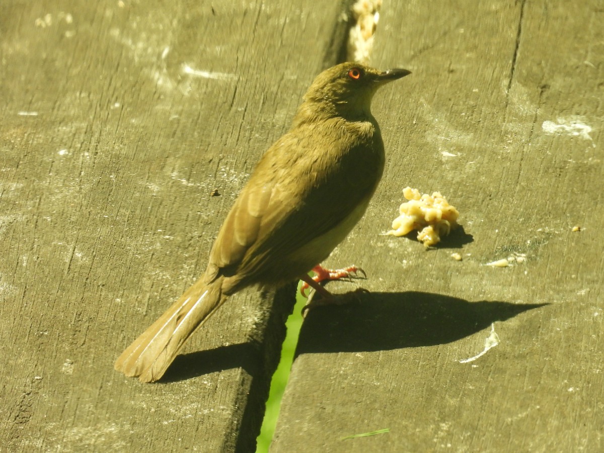
[[[417,239],[429,247],[439,243],[441,237],[458,226],[459,212],[440,192],[420,195],[419,190],[405,187],[403,196],[408,202],[400,205],[400,216],[393,220],[393,230],[386,234],[405,236],[413,230],[420,230]]]

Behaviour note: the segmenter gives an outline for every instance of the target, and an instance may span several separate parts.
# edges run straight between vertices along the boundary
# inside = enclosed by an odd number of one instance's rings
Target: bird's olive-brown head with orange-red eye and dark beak
[[[332,104],[338,111],[368,114],[377,89],[411,74],[406,69],[379,71],[359,63],[342,63],[316,76],[304,95],[307,103]]]

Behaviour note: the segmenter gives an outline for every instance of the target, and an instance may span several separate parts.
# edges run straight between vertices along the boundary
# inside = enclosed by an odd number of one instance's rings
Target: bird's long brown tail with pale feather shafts
[[[200,278],[159,316],[115,361],[115,369],[141,382],[157,381],[182,345],[225,301],[222,278],[205,284]]]

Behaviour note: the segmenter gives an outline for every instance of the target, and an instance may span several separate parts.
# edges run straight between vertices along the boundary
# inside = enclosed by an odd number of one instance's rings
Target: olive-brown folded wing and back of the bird
[[[308,131],[288,133],[265,153],[220,228],[210,266],[222,268],[227,276],[240,274],[250,283],[266,280],[265,267],[274,272],[274,263],[286,265],[288,256],[336,228],[366,202],[384,165],[381,141],[377,149],[370,147],[373,155],[364,143],[319,139]],[[320,259],[331,249],[321,251]],[[283,279],[316,264],[284,271]]]

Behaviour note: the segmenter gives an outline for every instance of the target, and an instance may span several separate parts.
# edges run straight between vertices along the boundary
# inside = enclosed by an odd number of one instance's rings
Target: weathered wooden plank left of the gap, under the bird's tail
[[[163,384],[113,363],[204,270],[341,5],[34,1],[3,16],[2,448],[250,451],[292,289],[274,309],[272,293],[233,297]]]

